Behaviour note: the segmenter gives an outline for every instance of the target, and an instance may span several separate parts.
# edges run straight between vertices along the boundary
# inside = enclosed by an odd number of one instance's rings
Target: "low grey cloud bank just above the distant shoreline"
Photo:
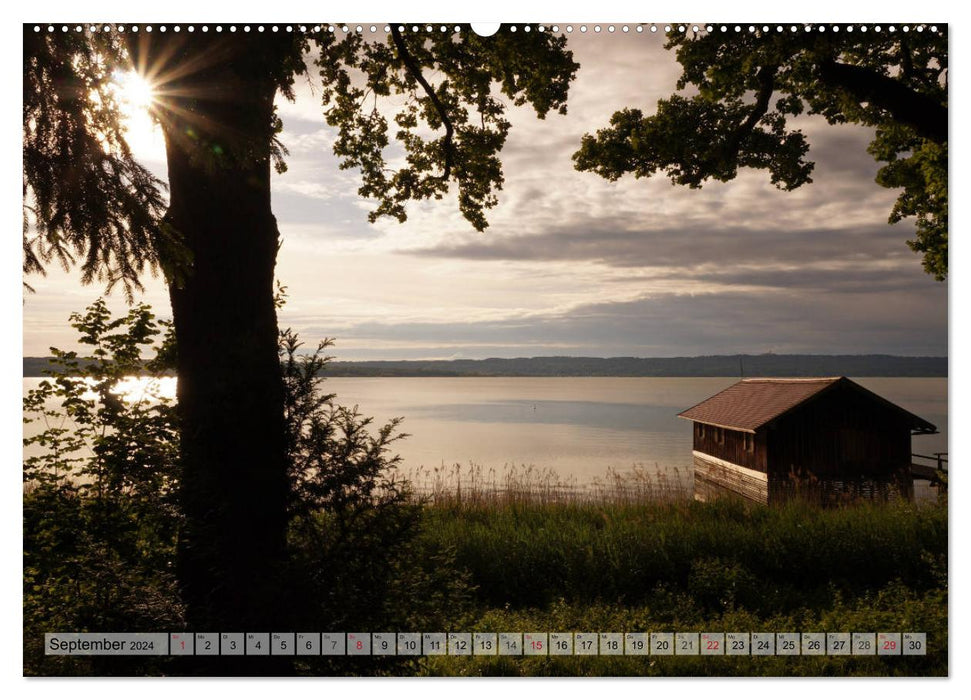
[[[559,315],[474,323],[360,323],[329,332],[346,338],[348,346],[369,339],[421,345],[425,357],[447,356],[456,346],[465,356],[482,357],[769,351],[944,355],[945,299],[942,285],[920,295],[900,291],[682,294],[591,304]],[[431,348],[437,352],[428,351]]]

